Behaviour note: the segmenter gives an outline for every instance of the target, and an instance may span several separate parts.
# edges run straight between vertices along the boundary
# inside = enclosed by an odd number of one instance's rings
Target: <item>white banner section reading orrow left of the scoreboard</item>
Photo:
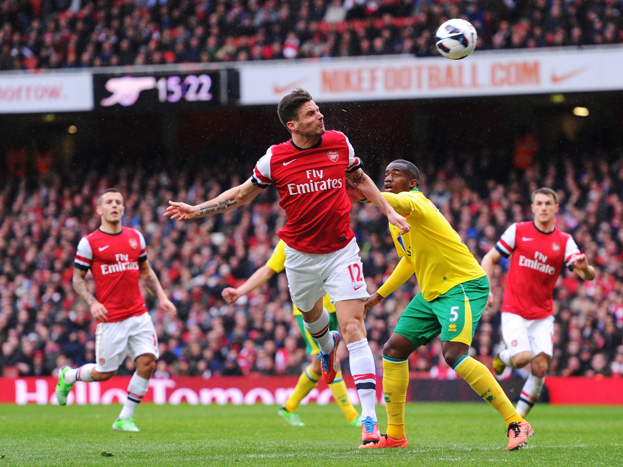
[[[0,113],[92,110],[91,73],[0,76]]]

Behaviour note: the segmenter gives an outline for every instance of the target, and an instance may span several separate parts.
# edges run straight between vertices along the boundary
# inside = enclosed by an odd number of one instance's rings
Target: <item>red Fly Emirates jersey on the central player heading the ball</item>
[[[292,139],[270,146],[252,179],[262,188],[277,187],[288,217],[277,235],[288,246],[303,253],[332,253],[354,237],[345,175],[359,167],[346,135],[326,131],[312,148],[298,148]]]

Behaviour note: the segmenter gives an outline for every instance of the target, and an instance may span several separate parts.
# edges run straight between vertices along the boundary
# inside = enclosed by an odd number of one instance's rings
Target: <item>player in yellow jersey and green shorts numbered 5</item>
[[[488,300],[487,275],[459,234],[418,191],[419,178],[417,167],[402,159],[390,163],[385,171],[383,196],[396,212],[406,217],[411,230],[406,235],[398,235],[396,227],[389,225],[401,260],[383,286],[366,300],[365,308],[368,310],[378,304],[414,273],[421,292],[402,312],[396,329],[383,347],[388,431],[378,443],[359,448],[407,447],[404,434],[404,403],[409,385],[407,359],[417,347],[440,335],[447,364],[500,412],[508,427],[508,450],[518,449],[528,442],[528,436],[533,434],[532,427],[517,414],[487,367],[468,354],[478,319]]]

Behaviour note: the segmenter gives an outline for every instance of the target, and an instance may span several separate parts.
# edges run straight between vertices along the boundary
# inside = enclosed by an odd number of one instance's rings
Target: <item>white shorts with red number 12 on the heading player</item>
[[[285,245],[285,274],[292,301],[310,311],[327,293],[331,303],[369,297],[355,238],[333,253],[303,253]]]

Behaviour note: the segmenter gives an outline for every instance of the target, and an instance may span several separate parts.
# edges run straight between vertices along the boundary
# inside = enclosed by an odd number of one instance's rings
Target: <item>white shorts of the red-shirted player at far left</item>
[[[131,316],[115,323],[99,323],[95,328],[95,370],[115,371],[125,357],[152,354],[158,359],[158,337],[149,313]]]

